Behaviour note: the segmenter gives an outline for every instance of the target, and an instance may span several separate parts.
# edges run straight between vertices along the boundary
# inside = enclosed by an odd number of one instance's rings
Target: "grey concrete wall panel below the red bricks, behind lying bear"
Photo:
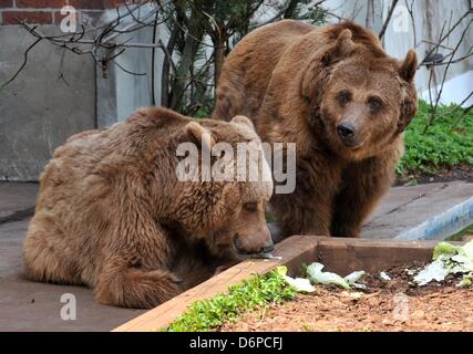
[[[33,41],[19,25],[0,27],[0,83],[17,72]],[[37,180],[55,147],[96,125],[93,61],[45,42],[28,56],[0,92],[0,180]]]

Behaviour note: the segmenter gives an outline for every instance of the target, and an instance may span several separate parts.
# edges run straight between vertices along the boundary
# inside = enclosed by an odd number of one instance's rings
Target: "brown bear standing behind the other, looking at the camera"
[[[214,118],[244,114],[261,140],[296,143],[296,190],[271,199],[284,237],[360,235],[403,154],[415,71],[414,51],[392,59],[377,35],[350,22],[285,20],[232,51]]]

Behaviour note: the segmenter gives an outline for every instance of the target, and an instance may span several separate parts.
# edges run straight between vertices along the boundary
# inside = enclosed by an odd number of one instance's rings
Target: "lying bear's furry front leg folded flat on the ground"
[[[124,258],[116,257],[103,267],[95,299],[107,305],[151,309],[182,291],[182,280],[172,272],[134,268]]]

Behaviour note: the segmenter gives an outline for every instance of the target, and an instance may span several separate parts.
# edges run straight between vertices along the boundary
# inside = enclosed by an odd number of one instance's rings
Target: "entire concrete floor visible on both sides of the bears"
[[[0,183],[0,331],[110,331],[144,311],[104,306],[90,289],[34,283],[22,278],[22,242],[38,185]],[[461,181],[395,187],[374,211],[362,236],[393,238],[473,196]],[[61,295],[76,299],[76,320],[61,319]]]

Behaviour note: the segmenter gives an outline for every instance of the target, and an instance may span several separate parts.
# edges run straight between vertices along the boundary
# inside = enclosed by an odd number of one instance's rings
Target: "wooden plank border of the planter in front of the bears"
[[[429,261],[435,241],[373,241],[364,239],[292,236],[276,246],[281,260],[250,259],[227,269],[199,285],[116,327],[114,332],[148,332],[167,326],[197,300],[227,291],[228,285],[265,274],[277,266],[287,266],[290,275],[300,271],[301,263],[320,262],[325,271],[347,275],[356,270],[379,272],[412,261]]]

